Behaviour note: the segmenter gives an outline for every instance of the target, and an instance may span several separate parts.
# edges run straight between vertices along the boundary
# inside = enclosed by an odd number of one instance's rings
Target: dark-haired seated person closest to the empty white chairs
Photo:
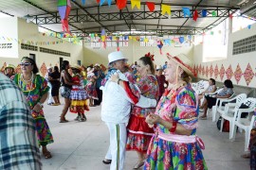
[[[233,93],[233,83],[231,80],[226,79],[224,81],[224,88],[222,91],[217,93],[215,96],[205,95],[206,100],[201,106],[201,108],[204,109],[204,114],[200,116],[200,119],[207,119],[207,110],[216,105],[217,98],[229,98]]]

